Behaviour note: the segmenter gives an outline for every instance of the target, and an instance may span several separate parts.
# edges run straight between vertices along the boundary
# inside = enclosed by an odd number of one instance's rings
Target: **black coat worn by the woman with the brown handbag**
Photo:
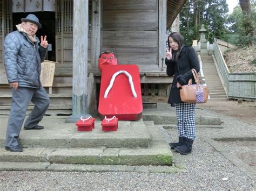
[[[173,53],[174,52],[172,52],[172,54]],[[197,70],[197,72],[199,72],[200,70],[197,54],[194,51],[194,48],[190,46],[184,46],[181,49],[177,62],[174,60],[168,60],[166,58],[165,64],[167,65],[167,75],[174,75],[168,103],[182,103],[179,94],[179,90],[181,88],[177,88],[177,82],[179,82],[181,86],[183,86],[186,85],[188,83],[188,80],[192,78],[192,84],[196,84],[191,69],[194,68]]]

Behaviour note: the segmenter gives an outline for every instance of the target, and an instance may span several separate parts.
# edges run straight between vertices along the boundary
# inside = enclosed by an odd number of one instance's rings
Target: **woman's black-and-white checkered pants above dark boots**
[[[177,128],[179,137],[186,137],[188,139],[196,139],[196,126],[194,123],[195,103],[177,103]]]

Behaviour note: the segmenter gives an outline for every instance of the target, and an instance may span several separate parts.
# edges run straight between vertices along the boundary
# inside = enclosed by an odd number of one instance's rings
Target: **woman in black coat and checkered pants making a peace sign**
[[[181,154],[189,154],[196,138],[196,126],[194,122],[196,104],[182,102],[180,100],[179,90],[191,78],[192,83],[196,84],[192,77],[191,69],[194,68],[199,72],[200,68],[196,52],[192,47],[184,46],[184,37],[178,32],[173,32],[168,37],[165,64],[167,65],[167,75],[174,75],[168,103],[176,105],[179,134],[179,142],[170,143],[169,145]]]

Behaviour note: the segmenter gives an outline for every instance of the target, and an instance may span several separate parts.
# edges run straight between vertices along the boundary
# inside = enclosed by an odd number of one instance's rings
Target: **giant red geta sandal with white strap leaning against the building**
[[[112,84],[112,86],[111,86]],[[119,120],[142,118],[142,91],[137,65],[106,65],[102,70],[99,117],[116,116]]]

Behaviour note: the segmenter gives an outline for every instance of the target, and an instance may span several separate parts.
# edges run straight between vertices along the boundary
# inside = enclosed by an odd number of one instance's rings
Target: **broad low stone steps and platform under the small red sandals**
[[[75,124],[65,123],[65,116],[45,116],[40,123],[44,130],[21,130],[21,153],[5,151],[8,116],[2,115],[0,170],[62,171],[65,165],[76,165],[69,168],[90,171],[87,168],[91,166],[82,165],[100,165],[105,171],[112,171],[114,166],[160,165],[165,167],[160,172],[178,172],[179,167],[172,166],[170,140],[166,140],[163,129],[174,127],[176,111],[169,104],[158,107],[145,109],[140,121],[119,121],[118,130],[109,132],[102,131],[97,116],[93,131],[77,131]],[[223,128],[219,117],[201,109],[196,110],[196,124],[199,128]]]

